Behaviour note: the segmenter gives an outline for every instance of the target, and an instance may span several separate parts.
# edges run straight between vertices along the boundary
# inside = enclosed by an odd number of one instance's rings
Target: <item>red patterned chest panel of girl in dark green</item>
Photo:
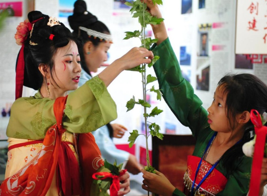
[[[186,182],[186,184],[190,188],[191,188],[190,185],[192,185],[192,182],[194,181],[195,172],[197,170],[200,159],[201,158],[197,156],[191,156],[191,155],[188,156],[187,173],[186,173],[187,176],[185,176],[185,178],[186,177],[189,178],[188,179],[189,182]],[[212,165],[210,163],[208,163],[205,160],[202,160],[197,178],[195,180],[195,185],[199,184],[199,182],[203,179],[203,177],[206,175],[206,173],[209,171],[211,167]],[[216,195],[225,188],[226,183],[227,183],[227,178],[215,168],[211,172],[211,174],[207,177],[207,179],[201,184],[199,193],[202,194],[203,192],[206,192],[207,195]],[[189,195],[189,190],[187,189],[187,187],[184,187],[184,193],[186,195]]]

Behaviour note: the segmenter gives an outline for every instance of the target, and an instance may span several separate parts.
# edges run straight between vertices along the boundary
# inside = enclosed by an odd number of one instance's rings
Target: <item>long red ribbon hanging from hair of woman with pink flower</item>
[[[27,23],[29,32],[32,30],[33,24],[35,22],[41,20],[42,18],[43,17],[41,17],[41,18],[39,18],[39,19],[37,19],[35,21]],[[17,68],[16,68],[16,93],[15,93],[15,99],[20,98],[22,96],[23,81],[24,81],[24,67],[25,67],[25,63],[24,63],[24,43],[22,43],[22,46],[21,46],[21,49],[20,49],[20,52],[19,52],[19,56],[18,56]]]

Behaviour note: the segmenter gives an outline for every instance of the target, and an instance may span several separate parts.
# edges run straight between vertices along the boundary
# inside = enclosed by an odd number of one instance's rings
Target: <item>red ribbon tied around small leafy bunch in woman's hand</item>
[[[120,175],[113,175],[110,172],[96,172],[92,175],[95,180],[104,180],[107,178],[112,178],[112,183],[110,185],[110,196],[118,196],[118,191],[120,190],[119,177],[126,173],[126,169],[120,171]],[[96,177],[97,175],[103,176],[101,178]]]

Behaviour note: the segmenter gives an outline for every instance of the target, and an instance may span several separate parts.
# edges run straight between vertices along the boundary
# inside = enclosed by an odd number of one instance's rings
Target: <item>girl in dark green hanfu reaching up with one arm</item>
[[[153,16],[161,18],[152,0],[144,2]],[[183,190],[177,190],[162,173],[144,169],[142,188],[163,196],[245,196],[252,158],[243,154],[242,145],[253,139],[250,110],[262,114],[267,109],[267,86],[251,74],[226,75],[205,110],[191,84],[182,77],[164,23],[152,25],[152,29],[158,39],[152,51],[161,57],[154,64],[159,88],[177,119],[191,129],[196,144],[193,155],[188,156]]]

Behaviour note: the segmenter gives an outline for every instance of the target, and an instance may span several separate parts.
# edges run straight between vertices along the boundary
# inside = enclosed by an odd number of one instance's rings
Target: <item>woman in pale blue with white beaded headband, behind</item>
[[[87,11],[83,0],[77,0],[74,3],[73,15],[68,17],[68,21],[73,29],[72,34],[83,43],[79,52],[82,71],[78,84],[82,86],[92,78],[90,71],[97,72],[97,69],[107,60],[107,51],[112,44],[112,37],[107,26]],[[141,172],[141,166],[137,163],[136,157],[117,149],[112,140],[113,137],[121,138],[125,129],[122,125],[108,123],[92,134],[95,136],[103,158],[111,163],[115,160],[117,163],[126,163],[125,168],[130,173],[138,174]]]

